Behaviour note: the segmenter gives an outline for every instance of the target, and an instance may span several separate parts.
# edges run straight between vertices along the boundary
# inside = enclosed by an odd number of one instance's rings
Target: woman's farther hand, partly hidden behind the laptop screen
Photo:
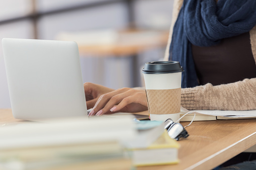
[[[87,109],[93,108],[101,95],[114,91],[114,89],[94,83],[84,83],[83,88],[86,94]]]

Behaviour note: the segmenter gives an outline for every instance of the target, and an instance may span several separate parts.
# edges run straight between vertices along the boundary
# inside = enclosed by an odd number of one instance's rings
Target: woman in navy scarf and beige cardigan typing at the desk
[[[188,110],[256,109],[256,1],[176,0],[165,60],[179,61]],[[145,90],[85,83],[89,116],[147,110]]]

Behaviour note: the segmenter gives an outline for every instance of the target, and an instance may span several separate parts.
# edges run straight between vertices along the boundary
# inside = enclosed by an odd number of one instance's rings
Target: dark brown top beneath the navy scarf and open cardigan
[[[249,33],[226,38],[212,47],[192,45],[199,84],[233,83],[256,77]]]

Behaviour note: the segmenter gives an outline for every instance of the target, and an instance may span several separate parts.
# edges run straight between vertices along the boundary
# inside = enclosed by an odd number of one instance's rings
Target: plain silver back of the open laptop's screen
[[[75,42],[4,38],[2,44],[15,118],[87,117]]]

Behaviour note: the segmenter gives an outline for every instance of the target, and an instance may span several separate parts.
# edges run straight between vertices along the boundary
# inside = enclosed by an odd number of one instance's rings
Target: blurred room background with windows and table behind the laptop
[[[83,82],[138,87],[144,63],[163,58],[173,1],[0,0],[0,38],[76,41]],[[0,108],[11,108],[0,44]]]

